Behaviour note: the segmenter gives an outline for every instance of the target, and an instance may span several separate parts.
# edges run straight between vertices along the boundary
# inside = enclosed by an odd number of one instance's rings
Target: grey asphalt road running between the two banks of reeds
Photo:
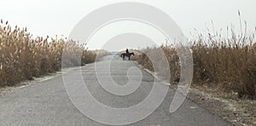
[[[84,78],[84,83],[86,83],[85,85],[88,89],[87,91],[90,91],[90,94],[102,104],[116,108],[136,106],[147,97],[150,90],[153,88],[154,77],[148,72],[138,68],[135,62],[127,60],[123,61],[120,57],[116,56],[112,59],[110,70],[111,77],[115,83],[125,85],[129,82],[129,80],[130,82],[136,83],[138,78],[143,81],[132,94],[127,94],[124,96],[111,94],[106,89],[103,89],[102,85],[99,84],[95,70],[95,65],[98,65],[99,70],[101,71],[97,71],[97,73],[100,75],[106,74],[108,71],[104,68],[106,68],[107,62],[111,59],[111,55],[106,56],[101,61],[96,62],[96,64],[88,64],[81,67],[81,71],[79,68],[76,68],[65,73],[65,76],[73,77],[73,79],[69,79],[69,81],[74,83],[73,92],[83,94],[83,91],[81,91],[83,88],[79,87],[81,85],[75,84],[80,83],[76,77],[79,77],[79,72],[81,72],[82,77]],[[140,69],[142,78],[137,76],[135,73],[133,73],[135,76],[128,78],[127,72],[131,70],[131,67],[137,67],[137,69]],[[103,80],[105,80],[104,83],[106,83],[107,86],[108,84],[112,84],[108,82],[108,78]],[[169,87],[162,84],[161,88]],[[166,98],[153,113],[143,120],[137,123],[131,123],[130,125],[231,125],[230,123],[225,122],[221,117],[212,115],[210,112],[207,112],[207,110],[201,108],[201,106],[196,105],[190,100],[185,100],[183,105],[180,106],[176,112],[170,113],[169,107],[172,103],[174,93],[175,91],[173,89],[169,89],[168,93],[166,94]],[[90,112],[94,111],[96,112],[96,108],[95,110],[90,109]],[[105,112],[102,114],[106,117],[102,119],[108,119],[108,114],[110,115],[113,113]],[[25,88],[16,89],[14,92],[1,96],[0,125],[94,126],[106,124],[97,123],[89,117],[84,116],[84,114],[73,105],[72,100],[69,99],[63,84],[63,77],[57,76],[41,83],[34,83],[26,86]]]

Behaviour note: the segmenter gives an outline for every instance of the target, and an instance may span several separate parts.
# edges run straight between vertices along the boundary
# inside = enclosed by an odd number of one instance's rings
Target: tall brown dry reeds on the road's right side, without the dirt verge
[[[199,36],[190,49],[193,50],[193,84],[207,86],[216,91],[236,93],[239,98],[256,98],[256,40],[255,33],[221,37],[219,34]],[[159,48],[166,54],[171,71],[171,83],[179,81],[180,60],[176,49],[170,45]],[[134,60],[149,70],[153,70],[147,53],[157,48],[141,50],[143,54]],[[157,55],[157,54],[155,54]],[[165,71],[164,69],[162,71]]]

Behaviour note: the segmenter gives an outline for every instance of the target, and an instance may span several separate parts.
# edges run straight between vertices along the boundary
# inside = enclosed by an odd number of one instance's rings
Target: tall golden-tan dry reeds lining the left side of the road
[[[15,26],[12,29],[7,21],[1,20],[0,86],[13,85],[22,80],[59,71],[62,50],[66,46],[71,47],[68,50],[71,52],[69,59],[75,57],[77,50],[82,49],[82,65],[95,60],[96,52],[84,49],[83,45],[63,38],[32,38],[26,28]]]

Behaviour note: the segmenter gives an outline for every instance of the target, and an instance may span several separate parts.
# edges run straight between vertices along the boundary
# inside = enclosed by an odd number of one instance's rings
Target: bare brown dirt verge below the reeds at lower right
[[[205,87],[191,87],[187,97],[234,125],[256,125],[256,100],[239,100],[229,95]]]

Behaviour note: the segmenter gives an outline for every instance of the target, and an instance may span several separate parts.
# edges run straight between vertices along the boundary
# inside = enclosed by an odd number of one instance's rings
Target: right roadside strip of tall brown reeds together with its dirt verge
[[[179,46],[179,49],[189,47],[193,55],[193,81],[187,98],[234,125],[255,125],[256,27],[251,33],[236,34],[230,28],[227,32],[230,36],[224,37],[219,32],[197,34],[194,40],[189,40],[191,45]],[[183,82],[180,79],[183,60],[179,59],[173,45],[166,43],[137,50],[131,59],[154,72],[152,62],[159,59],[149,60],[147,55],[162,57],[157,52],[163,50],[171,71],[171,87],[177,87],[178,82]],[[166,68],[160,67],[157,71],[165,72]]]

